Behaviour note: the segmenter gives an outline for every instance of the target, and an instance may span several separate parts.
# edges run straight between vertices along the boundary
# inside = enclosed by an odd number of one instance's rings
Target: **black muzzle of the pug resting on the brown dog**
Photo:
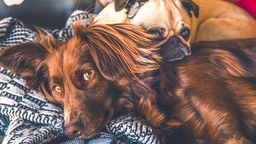
[[[159,47],[158,53],[164,61],[173,62],[191,54],[190,45],[185,45],[177,36],[172,36]]]

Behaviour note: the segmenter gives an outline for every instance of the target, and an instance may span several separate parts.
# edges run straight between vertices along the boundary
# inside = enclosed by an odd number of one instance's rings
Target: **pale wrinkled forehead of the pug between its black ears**
[[[144,28],[154,25],[177,27],[180,21],[189,23],[190,19],[179,0],[149,0],[137,9],[137,14],[129,21]]]

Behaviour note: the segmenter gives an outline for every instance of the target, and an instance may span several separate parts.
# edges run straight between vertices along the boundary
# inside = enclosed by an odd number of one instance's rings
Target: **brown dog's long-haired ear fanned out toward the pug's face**
[[[129,24],[73,27],[75,36],[86,42],[101,74],[108,80],[158,69],[160,57],[149,48],[151,35]]]

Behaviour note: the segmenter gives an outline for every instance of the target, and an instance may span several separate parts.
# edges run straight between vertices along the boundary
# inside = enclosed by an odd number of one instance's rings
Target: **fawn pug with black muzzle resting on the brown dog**
[[[224,0],[115,0],[96,21],[143,27],[158,36],[155,47],[165,49],[165,61],[190,55],[198,41],[256,38],[256,20]]]

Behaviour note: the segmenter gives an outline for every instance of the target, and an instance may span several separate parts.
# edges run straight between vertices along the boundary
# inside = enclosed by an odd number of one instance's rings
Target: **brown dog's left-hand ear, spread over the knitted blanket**
[[[55,43],[52,39],[41,36],[41,41],[12,45],[0,52],[0,65],[21,76],[29,88],[37,90],[48,78],[44,59]]]

